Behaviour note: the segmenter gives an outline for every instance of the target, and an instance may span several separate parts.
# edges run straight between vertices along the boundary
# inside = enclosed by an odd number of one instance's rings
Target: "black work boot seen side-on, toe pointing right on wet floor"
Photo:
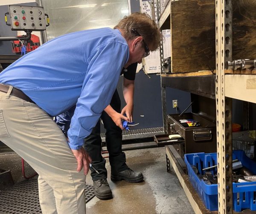
[[[130,168],[111,174],[112,181],[126,180],[130,183],[137,183],[143,180],[143,174],[141,172],[132,171]]]

